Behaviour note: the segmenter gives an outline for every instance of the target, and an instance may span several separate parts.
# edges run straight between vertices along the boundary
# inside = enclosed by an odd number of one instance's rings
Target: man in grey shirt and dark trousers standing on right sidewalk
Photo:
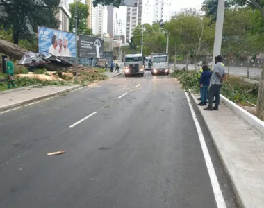
[[[220,105],[220,89],[224,81],[225,71],[222,65],[222,55],[215,57],[215,67],[211,78],[211,86],[208,93],[209,105],[204,110],[218,110]],[[213,107],[213,97],[215,96],[215,107]]]

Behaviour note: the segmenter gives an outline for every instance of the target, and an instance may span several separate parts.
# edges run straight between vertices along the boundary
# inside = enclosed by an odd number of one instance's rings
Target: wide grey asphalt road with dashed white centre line
[[[197,118],[226,207],[236,208]],[[170,76],[119,76],[0,114],[0,128],[0,207],[222,208],[185,92]],[[57,150],[66,153],[47,156]]]

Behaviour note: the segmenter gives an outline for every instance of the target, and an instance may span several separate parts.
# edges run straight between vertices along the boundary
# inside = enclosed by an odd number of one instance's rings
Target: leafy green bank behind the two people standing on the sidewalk
[[[175,71],[171,74],[183,85],[183,89],[191,89],[192,92],[199,93],[199,78],[195,71]],[[247,101],[254,103],[258,98],[258,87],[254,84],[246,83],[239,77],[229,76],[223,83],[221,94],[229,100],[239,105],[248,105]]]

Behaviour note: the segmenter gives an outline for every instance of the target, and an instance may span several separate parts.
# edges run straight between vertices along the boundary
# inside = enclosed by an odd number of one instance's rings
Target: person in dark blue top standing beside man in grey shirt
[[[208,65],[203,66],[203,72],[201,73],[200,77],[200,94],[201,94],[201,102],[198,105],[206,105],[207,103],[207,92],[208,87],[210,85],[210,78],[212,73],[208,67]]]

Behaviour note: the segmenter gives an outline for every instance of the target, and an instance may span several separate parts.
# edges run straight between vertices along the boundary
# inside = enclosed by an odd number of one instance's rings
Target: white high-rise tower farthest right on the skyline
[[[171,3],[171,0],[154,0],[154,21],[170,21]]]

